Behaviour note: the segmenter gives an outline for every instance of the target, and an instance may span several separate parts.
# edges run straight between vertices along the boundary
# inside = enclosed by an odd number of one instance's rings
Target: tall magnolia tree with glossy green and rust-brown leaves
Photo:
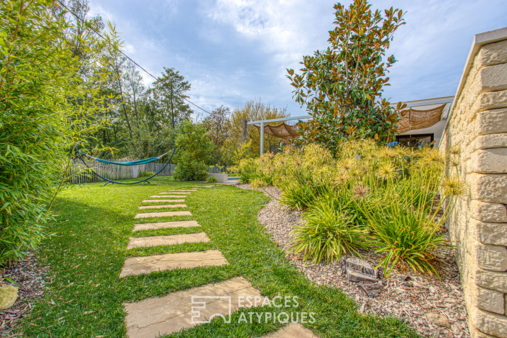
[[[340,3],[330,47],[304,56],[300,74],[287,69],[296,101],[313,116],[300,122],[296,144],[319,143],[333,153],[340,139],[393,139],[405,104],[395,107],[382,98],[388,68],[396,59],[385,57],[394,31],[405,24],[399,9],[372,12],[366,0],[348,8]]]

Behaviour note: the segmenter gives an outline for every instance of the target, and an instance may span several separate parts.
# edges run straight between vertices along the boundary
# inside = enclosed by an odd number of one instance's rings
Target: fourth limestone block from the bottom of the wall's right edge
[[[468,242],[477,266],[491,271],[507,270],[507,248],[502,245],[482,244],[474,239]]]

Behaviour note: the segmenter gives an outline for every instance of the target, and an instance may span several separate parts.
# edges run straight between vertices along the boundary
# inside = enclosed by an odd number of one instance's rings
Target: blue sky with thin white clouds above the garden
[[[212,110],[261,98],[286,106],[292,116],[306,113],[292,99],[285,68],[299,69],[303,55],[327,48],[334,19],[334,2],[323,0],[89,3],[89,14],[114,22],[125,52],[148,71],[157,76],[163,66],[179,70],[192,84],[194,103]],[[474,34],[507,26],[505,0],[371,4],[407,11],[407,24],[395,32],[388,51],[399,60],[385,87],[391,102],[454,95]]]

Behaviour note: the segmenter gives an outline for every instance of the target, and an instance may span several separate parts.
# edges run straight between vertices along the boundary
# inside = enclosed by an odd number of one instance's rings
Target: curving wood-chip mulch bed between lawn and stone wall
[[[249,184],[238,184],[241,189],[251,189]],[[273,186],[264,188],[271,195],[278,197],[281,191]],[[443,248],[436,254],[443,260],[437,265],[442,280],[427,274],[416,275],[413,272],[400,273],[393,271],[389,278],[381,277],[377,282],[352,282],[346,278],[342,257],[341,262],[325,264],[323,261],[313,265],[288,253],[287,243],[291,241],[291,230],[301,221],[301,213],[280,204],[271,196],[271,201],[259,211],[258,219],[271,234],[271,239],[287,252],[286,258],[299,271],[315,282],[332,287],[338,287],[348,294],[359,307],[359,311],[366,314],[381,316],[396,316],[404,320],[422,336],[438,338],[469,337],[466,308],[463,290],[461,288],[459,271],[455,262],[455,250],[452,247]],[[362,250],[363,259],[373,266],[377,265],[381,254]],[[435,321],[429,321],[426,315],[432,313],[444,316],[444,325],[439,326]],[[431,317],[431,316],[429,316]],[[447,320],[447,321],[446,321]],[[443,325],[440,323],[440,325]]]

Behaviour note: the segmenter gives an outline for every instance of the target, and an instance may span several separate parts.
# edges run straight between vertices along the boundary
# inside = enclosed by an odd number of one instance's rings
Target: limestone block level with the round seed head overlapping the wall
[[[488,203],[507,204],[507,175],[479,174],[467,176],[470,184],[470,196],[474,200]]]

